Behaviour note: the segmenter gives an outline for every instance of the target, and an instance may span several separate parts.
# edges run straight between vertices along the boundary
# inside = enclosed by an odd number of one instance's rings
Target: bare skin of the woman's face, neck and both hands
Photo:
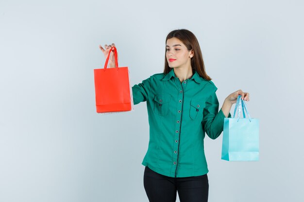
[[[103,55],[107,58],[109,51],[115,47],[115,44],[104,45],[104,48],[99,45]],[[113,50],[112,50],[113,53]],[[173,37],[167,40],[166,43],[166,58],[169,63],[169,67],[173,68],[175,76],[180,79],[181,82],[191,78],[192,67],[191,58],[194,56],[193,50],[187,50],[186,46],[177,38]],[[169,62],[169,58],[176,59],[174,62]],[[115,67],[115,59],[113,54],[110,56],[109,67]],[[221,107],[225,117],[228,117],[231,107],[236,103],[237,96],[241,95],[242,100],[249,101],[249,93],[244,93],[242,90],[238,90],[229,94]]]

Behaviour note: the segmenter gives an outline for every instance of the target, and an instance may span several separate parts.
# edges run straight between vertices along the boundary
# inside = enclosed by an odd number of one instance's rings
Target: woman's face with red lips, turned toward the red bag
[[[166,58],[171,68],[191,68],[193,50],[188,50],[178,38],[170,38],[166,44]]]

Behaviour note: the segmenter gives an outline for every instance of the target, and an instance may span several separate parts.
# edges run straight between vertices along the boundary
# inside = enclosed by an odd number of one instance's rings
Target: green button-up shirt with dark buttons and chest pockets
[[[132,87],[134,104],[147,101],[149,116],[150,140],[142,165],[169,177],[208,172],[205,132],[211,139],[219,137],[225,118],[218,112],[216,90],[197,72],[181,83],[173,69]]]

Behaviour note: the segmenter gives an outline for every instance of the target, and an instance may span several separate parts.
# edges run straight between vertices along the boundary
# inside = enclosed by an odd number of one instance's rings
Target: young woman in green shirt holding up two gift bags
[[[113,46],[100,46],[105,57]],[[109,67],[115,67],[114,57]],[[188,30],[168,34],[164,73],[134,85],[132,91],[135,105],[147,102],[150,140],[142,164],[149,201],[175,202],[178,191],[181,202],[207,202],[205,133],[211,139],[219,137],[237,96],[249,101],[249,93],[231,93],[219,111],[217,87],[205,72],[195,35]]]

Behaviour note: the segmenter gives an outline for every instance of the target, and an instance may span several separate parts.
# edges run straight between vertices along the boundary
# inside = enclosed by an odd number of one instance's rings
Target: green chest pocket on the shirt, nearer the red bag
[[[156,94],[154,97],[154,112],[158,115],[167,115],[169,112],[169,94]]]

